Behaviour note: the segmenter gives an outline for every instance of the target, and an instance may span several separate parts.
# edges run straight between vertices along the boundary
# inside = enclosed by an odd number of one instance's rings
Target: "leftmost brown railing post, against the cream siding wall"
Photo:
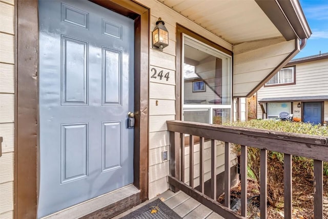
[[[171,176],[180,178],[180,147],[178,146],[179,133],[170,131],[170,173]],[[177,192],[174,186],[171,185],[171,190]]]

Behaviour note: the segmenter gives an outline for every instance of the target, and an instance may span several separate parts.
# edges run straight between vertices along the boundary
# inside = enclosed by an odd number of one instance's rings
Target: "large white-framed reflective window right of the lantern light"
[[[182,118],[222,124],[231,121],[231,56],[183,36]]]

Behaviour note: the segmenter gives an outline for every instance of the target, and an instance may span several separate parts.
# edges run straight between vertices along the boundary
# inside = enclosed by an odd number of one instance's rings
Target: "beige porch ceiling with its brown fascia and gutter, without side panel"
[[[232,45],[280,36],[289,41],[311,35],[298,0],[158,2]]]

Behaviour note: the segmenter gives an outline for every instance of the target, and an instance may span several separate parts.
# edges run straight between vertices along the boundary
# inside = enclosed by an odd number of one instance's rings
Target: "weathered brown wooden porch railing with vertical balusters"
[[[170,131],[170,176],[172,190],[182,190],[225,218],[247,216],[247,148],[260,149],[260,215],[267,218],[267,151],[284,154],[284,218],[292,218],[292,155],[314,160],[314,218],[323,218],[323,161],[328,161],[328,137],[248,128],[216,126],[203,123],[167,121]],[[194,136],[199,136],[199,188],[194,188],[194,156],[189,156],[189,185],[185,179],[185,134],[189,134],[190,154],[194,154]],[[211,140],[211,197],[204,194],[204,140]],[[224,205],[216,201],[216,145],[224,149]],[[230,146],[241,145],[241,215],[230,209]]]

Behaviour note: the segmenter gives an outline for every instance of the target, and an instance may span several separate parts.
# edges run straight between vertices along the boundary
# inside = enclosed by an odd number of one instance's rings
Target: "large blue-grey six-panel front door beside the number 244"
[[[134,21],[39,1],[38,217],[133,183]]]

